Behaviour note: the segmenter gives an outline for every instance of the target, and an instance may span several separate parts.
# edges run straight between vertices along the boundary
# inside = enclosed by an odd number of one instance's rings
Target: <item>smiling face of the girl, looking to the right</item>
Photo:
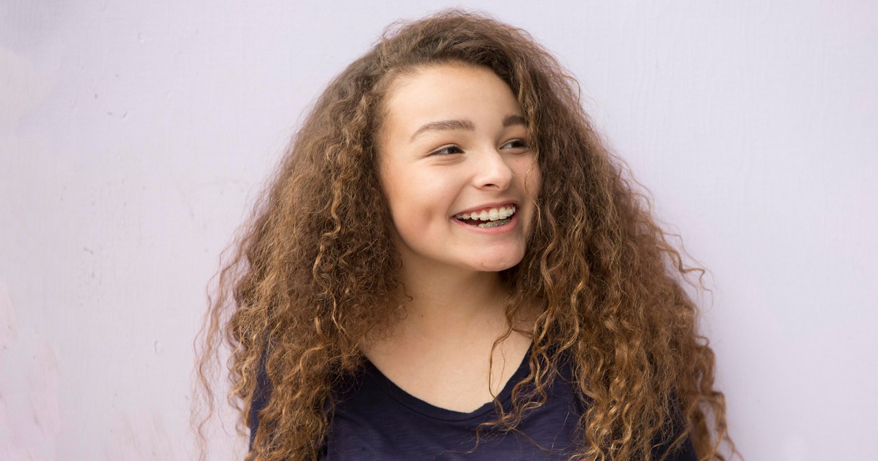
[[[406,269],[519,263],[541,176],[512,90],[489,68],[452,63],[399,76],[388,94],[380,176]]]

